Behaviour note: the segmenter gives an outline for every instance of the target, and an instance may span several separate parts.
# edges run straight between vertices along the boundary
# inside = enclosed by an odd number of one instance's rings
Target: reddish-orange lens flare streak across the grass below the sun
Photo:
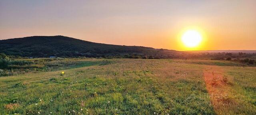
[[[228,114],[229,107],[235,104],[234,99],[230,97],[229,79],[223,73],[218,66],[206,66],[204,70],[206,89],[217,114]]]

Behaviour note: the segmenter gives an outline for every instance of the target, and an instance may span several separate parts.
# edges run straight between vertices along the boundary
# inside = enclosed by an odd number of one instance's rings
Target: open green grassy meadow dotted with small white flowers
[[[1,115],[256,115],[256,67],[230,61],[64,59],[0,87]]]

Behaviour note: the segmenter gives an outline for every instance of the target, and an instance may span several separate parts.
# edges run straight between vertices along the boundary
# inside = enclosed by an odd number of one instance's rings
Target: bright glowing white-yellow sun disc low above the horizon
[[[194,48],[201,43],[202,36],[200,32],[196,30],[187,30],[182,35],[181,40],[186,47]]]

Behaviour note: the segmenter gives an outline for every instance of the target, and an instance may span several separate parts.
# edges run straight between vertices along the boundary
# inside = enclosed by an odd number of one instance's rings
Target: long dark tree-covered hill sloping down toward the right
[[[65,36],[32,36],[0,40],[0,53],[22,57],[176,58],[183,52],[100,44]]]

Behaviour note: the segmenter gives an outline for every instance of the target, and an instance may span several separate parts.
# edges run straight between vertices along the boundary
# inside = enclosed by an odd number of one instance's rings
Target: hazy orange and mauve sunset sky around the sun
[[[198,28],[203,42],[184,48]],[[68,36],[170,50],[256,50],[256,0],[0,0],[0,40]]]

